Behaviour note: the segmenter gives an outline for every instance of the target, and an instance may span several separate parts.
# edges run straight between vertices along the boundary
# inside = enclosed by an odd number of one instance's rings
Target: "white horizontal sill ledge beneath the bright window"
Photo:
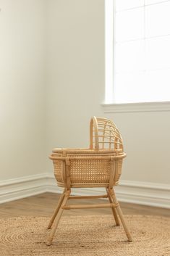
[[[105,113],[170,111],[170,102],[101,104]]]

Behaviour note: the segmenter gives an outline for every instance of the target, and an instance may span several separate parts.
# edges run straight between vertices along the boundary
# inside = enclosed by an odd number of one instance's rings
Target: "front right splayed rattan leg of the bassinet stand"
[[[120,205],[119,205],[119,202],[118,202],[117,199],[116,199],[116,195],[115,195],[115,193],[114,193],[114,189],[109,189],[109,192],[110,192],[111,197],[112,197],[112,199],[113,199],[113,201],[114,201],[114,204],[117,204],[116,211],[117,211],[117,213],[119,214],[119,218],[120,218],[120,220],[121,220],[121,222],[122,222],[122,225],[123,225],[123,227],[124,227],[124,231],[125,231],[125,233],[127,234],[127,239],[128,239],[129,241],[132,241],[132,236],[129,234],[129,230],[128,230],[127,225],[126,225],[126,223],[125,223],[124,216],[123,216],[123,214],[122,214],[122,210],[121,210],[121,207],[120,207]]]

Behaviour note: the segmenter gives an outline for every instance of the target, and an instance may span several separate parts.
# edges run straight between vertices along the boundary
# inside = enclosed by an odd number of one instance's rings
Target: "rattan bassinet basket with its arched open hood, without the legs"
[[[116,186],[124,157],[119,130],[111,120],[101,117],[90,120],[89,149],[54,149],[50,156],[56,181],[61,187],[67,183],[68,161],[70,187]]]

